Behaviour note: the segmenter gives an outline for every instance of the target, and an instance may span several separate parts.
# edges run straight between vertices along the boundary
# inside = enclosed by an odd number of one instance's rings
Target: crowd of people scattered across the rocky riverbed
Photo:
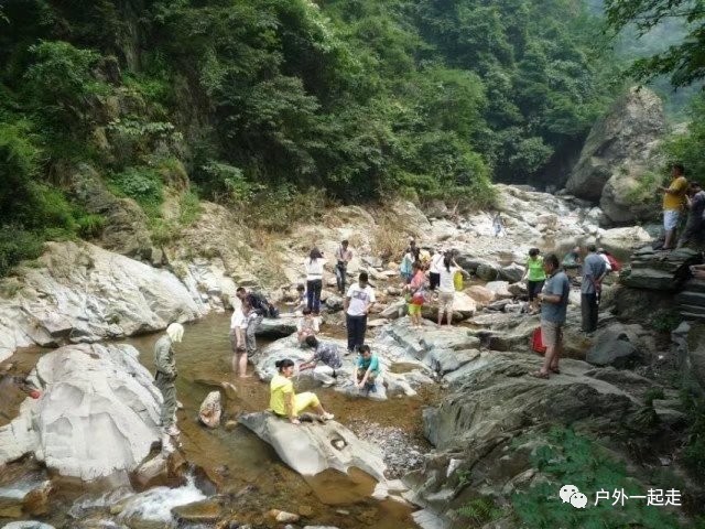
[[[671,183],[660,187],[663,192],[663,227],[665,239],[663,250],[671,250],[687,242],[702,241],[703,214],[705,212],[705,192],[696,182],[687,183],[685,170],[674,164]],[[687,210],[687,220],[680,238],[677,226],[683,212]],[[492,216],[494,235],[505,233],[499,213]],[[618,260],[603,248],[588,245],[585,250],[575,247],[558,261],[554,253],[543,256],[539,248],[531,248],[525,261],[527,312],[540,313],[541,341],[545,347],[542,367],[531,375],[546,379],[560,374],[560,358],[563,352],[563,327],[566,321],[571,282],[579,280],[582,331],[592,335],[597,328],[603,283],[610,272],[619,271]],[[365,343],[367,321],[377,303],[375,289],[367,272],[361,271],[357,281],[346,284],[347,270],[354,253],[347,240],[343,240],[335,251],[333,270],[337,291],[344,296],[345,327],[347,331],[347,350],[343,355],[356,354],[350,381],[361,391],[376,391],[380,376],[380,360],[370,346]],[[405,298],[406,313],[413,327],[423,325],[423,306],[437,304],[437,324],[445,319],[453,324],[453,304],[455,292],[463,289],[467,272],[455,261],[454,252],[442,247],[434,248],[433,255],[416,245],[411,238],[403,255],[400,256],[399,274],[401,292]],[[270,408],[293,424],[297,424],[305,410],[313,410],[322,421],[333,419],[313,392],[295,393],[292,376],[296,369],[313,370],[313,376],[325,387],[337,384],[343,375],[343,357],[337,346],[323,342],[321,331],[321,295],[324,285],[327,261],[318,248],[312,248],[304,260],[305,285],[296,287],[296,298],[292,312],[301,314],[296,325],[296,343],[307,348],[311,355],[297,367],[290,358],[276,361],[276,375],[270,382]],[[705,266],[692,267],[695,277],[705,278]],[[278,317],[279,311],[263,295],[237,289],[232,300],[234,313],[230,320],[230,339],[232,344],[232,370],[239,377],[248,377],[248,358],[257,352],[256,333],[264,317]],[[171,324],[166,333],[155,344],[155,385],[163,396],[161,422],[165,438],[178,435],[175,425],[177,407],[174,381],[177,376],[174,363],[173,344],[182,341],[184,328]],[[347,375],[346,375],[347,376]],[[345,377],[344,377],[345,378]]]

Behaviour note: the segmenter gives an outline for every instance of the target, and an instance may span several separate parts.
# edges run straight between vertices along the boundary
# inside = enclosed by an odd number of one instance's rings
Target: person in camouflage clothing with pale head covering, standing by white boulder
[[[166,334],[154,344],[154,365],[156,375],[154,385],[162,392],[162,451],[170,453],[174,451],[171,444],[172,436],[181,432],[176,428],[176,386],[177,376],[176,361],[174,360],[173,344],[181,343],[184,336],[184,327],[180,323],[172,323],[166,327]]]

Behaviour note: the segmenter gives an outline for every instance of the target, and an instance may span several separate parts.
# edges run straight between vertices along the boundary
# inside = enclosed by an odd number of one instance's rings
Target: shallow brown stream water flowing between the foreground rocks
[[[224,399],[227,407],[221,424],[234,420],[240,412],[263,410],[269,403],[267,384],[256,377],[238,379],[232,375],[228,327],[229,314],[209,315],[193,325],[187,325],[183,343],[175,346],[180,373],[176,381],[177,398],[184,404],[184,409],[177,412],[178,427],[182,430],[182,452],[188,462],[205,471],[217,485],[221,497],[227,498],[226,512],[235,515],[240,522],[262,527],[283,527],[265,517],[270,509],[296,512],[302,507],[312,512],[302,519],[302,526],[336,526],[341,529],[417,527],[410,516],[415,510],[411,506],[394,500],[378,501],[370,498],[375,482],[362,472],[352,471],[349,475],[344,475],[329,471],[313,478],[304,478],[284,465],[269,444],[245,427],[208,430],[199,425],[196,415],[200,402],[209,391],[219,388],[224,381],[236,386],[239,398],[235,402]],[[325,335],[325,326],[322,331]],[[328,331],[330,334],[339,335],[337,328]],[[153,371],[152,350],[159,336],[155,334],[124,341],[140,350],[140,359],[150,371]],[[258,345],[264,343],[260,341]],[[11,374],[26,375],[43,353],[36,348],[15,353],[9,360],[14,364]],[[0,424],[4,424],[17,415],[19,404],[25,396],[12,388],[12,385],[0,386]],[[364,422],[379,424],[380,428],[401,428],[414,442],[429,447],[422,440],[421,410],[438,400],[437,388],[422,390],[416,397],[390,398],[386,402],[354,399],[332,389],[317,388],[316,392],[326,409],[335,413],[336,420],[343,424]],[[380,438],[379,442],[383,443],[384,439]],[[32,483],[41,482],[45,475],[41,466],[32,460],[9,465],[0,471],[0,496],[3,490],[22,494],[24,488]],[[100,523],[118,523],[90,527],[120,527],[120,523],[131,528],[143,527],[132,526],[129,521],[110,515],[109,505],[115,503],[115,499],[101,499],[105,493],[105,487],[101,490],[86,490],[85,487],[65,486],[62,483],[53,496],[51,515],[40,519],[57,529],[78,527],[78,520],[86,517],[100,520]],[[166,495],[167,492],[162,490],[160,494]],[[152,501],[159,503],[160,499]],[[79,508],[82,506],[84,508]],[[10,520],[0,517],[0,527],[6,521]]]

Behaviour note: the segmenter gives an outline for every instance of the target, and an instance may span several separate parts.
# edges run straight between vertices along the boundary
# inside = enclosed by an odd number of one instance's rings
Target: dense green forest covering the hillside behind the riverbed
[[[545,183],[623,83],[582,0],[8,0],[0,28],[0,272],[102,229],[86,165],[154,230],[166,187],[487,205],[492,179]]]

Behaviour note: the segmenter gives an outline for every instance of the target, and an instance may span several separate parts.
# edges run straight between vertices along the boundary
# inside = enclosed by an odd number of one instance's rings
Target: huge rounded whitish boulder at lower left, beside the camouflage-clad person
[[[0,465],[33,453],[63,476],[94,481],[138,467],[160,439],[161,393],[130,345],[70,345],[40,358],[42,390],[0,429]]]

